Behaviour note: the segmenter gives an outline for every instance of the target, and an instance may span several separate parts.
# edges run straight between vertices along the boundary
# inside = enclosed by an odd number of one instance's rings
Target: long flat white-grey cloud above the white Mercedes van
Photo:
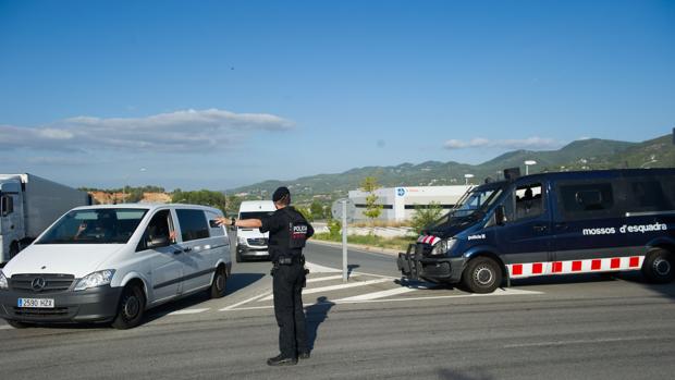
[[[287,131],[293,125],[266,113],[184,110],[146,118],[76,117],[44,126],[0,125],[0,140],[10,148],[204,152],[226,149],[254,131]]]

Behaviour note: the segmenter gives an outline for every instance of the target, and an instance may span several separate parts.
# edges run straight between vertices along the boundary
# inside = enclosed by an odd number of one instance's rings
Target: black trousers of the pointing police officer
[[[299,263],[279,266],[274,270],[274,316],[279,324],[279,351],[284,357],[295,357],[307,351],[304,281],[305,269]]]

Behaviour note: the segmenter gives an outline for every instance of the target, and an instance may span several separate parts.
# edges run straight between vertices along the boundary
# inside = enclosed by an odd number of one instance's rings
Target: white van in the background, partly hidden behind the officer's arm
[[[240,206],[238,219],[260,219],[274,212],[277,208],[271,200],[244,200]],[[246,258],[269,259],[267,242],[268,232],[258,229],[236,228],[236,262]]]

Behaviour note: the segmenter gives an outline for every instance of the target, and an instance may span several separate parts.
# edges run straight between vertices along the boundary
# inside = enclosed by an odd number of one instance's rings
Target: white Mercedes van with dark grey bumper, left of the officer
[[[225,294],[230,243],[218,209],[106,205],[66,212],[0,270],[0,318],[15,328],[111,322],[128,329],[179,297]]]

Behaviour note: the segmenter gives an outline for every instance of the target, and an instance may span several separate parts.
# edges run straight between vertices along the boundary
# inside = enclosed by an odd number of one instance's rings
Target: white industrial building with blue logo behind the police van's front
[[[428,207],[431,203],[439,204],[443,209],[452,208],[471,186],[416,186],[416,187],[384,187],[375,191],[377,203],[382,205],[379,220],[403,221],[409,220],[416,207]],[[366,197],[369,193],[351,191],[349,200],[354,204],[355,221],[367,220]]]

